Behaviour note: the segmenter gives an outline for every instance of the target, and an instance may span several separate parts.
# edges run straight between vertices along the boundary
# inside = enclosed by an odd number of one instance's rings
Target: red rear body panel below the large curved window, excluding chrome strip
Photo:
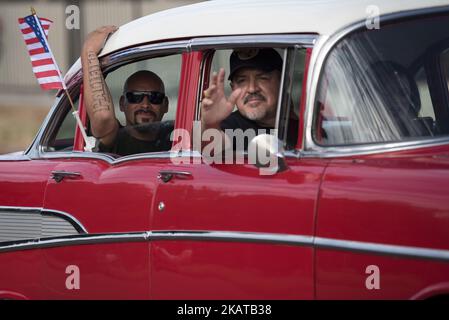
[[[447,250],[448,156],[443,146],[332,160],[321,185],[316,236]],[[320,299],[422,298],[418,291],[435,283],[445,285],[427,294],[449,293],[447,262],[331,249],[318,249],[316,259]],[[381,271],[381,290],[366,289],[369,265]]]

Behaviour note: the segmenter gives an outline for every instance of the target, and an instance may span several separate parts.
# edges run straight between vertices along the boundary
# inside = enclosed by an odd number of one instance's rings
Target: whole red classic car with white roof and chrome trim
[[[447,0],[242,0],[120,27],[101,53],[115,105],[152,70],[190,135],[230,52],[276,49],[277,132],[254,143],[279,165],[85,151],[61,91],[0,156],[0,298],[447,298],[448,26]],[[66,82],[89,128],[79,61]]]

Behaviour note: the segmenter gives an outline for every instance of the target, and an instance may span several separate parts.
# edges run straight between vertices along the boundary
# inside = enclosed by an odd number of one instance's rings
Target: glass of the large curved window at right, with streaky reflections
[[[431,63],[449,47],[447,23],[448,17],[416,19],[364,29],[340,41],[318,84],[315,142],[408,141],[448,132],[442,125],[449,123],[447,100],[436,98],[442,96],[443,86],[435,85],[441,71]]]

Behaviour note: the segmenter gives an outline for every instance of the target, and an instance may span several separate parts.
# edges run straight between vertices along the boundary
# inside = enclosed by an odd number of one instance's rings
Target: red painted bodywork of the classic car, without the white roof
[[[242,47],[240,38],[234,41]],[[263,41],[255,43],[282,48],[277,38]],[[24,239],[1,240],[0,299],[449,295],[447,142],[351,156],[329,156],[317,145],[323,154],[310,153],[311,128],[303,119],[313,97],[308,77],[319,68],[311,65],[311,47],[304,50],[297,150],[279,157],[286,170],[274,175],[189,153],[213,45],[182,53],[175,129],[183,134],[175,134],[174,145],[182,139],[187,155],[83,153],[77,128],[74,152],[45,154],[37,145],[31,156],[0,157],[0,214],[6,212],[0,229],[20,216],[40,218],[36,228],[44,230],[50,217],[67,232],[41,239],[21,230]],[[143,59],[145,51],[139,54]],[[82,103],[80,113],[86,122]],[[57,181],[54,172],[70,175]],[[164,172],[171,172],[167,181]],[[50,218],[47,229],[56,225]],[[67,284],[71,266],[79,269],[80,288]],[[380,290],[369,288],[372,266],[380,271]]]

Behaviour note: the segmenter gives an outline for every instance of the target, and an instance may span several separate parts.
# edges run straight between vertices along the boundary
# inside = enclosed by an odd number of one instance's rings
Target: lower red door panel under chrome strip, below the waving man
[[[153,299],[313,298],[310,248],[157,241],[151,253]]]

